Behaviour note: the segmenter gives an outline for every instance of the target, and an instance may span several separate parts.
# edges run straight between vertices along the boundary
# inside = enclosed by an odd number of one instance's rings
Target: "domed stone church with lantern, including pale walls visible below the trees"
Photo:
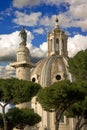
[[[48,56],[39,61],[31,72],[31,81],[37,82],[42,87],[49,87],[54,82],[70,79],[67,70],[67,35],[62,31],[56,19],[54,29],[47,36]],[[55,114],[46,112],[41,105],[32,100],[32,107],[41,115],[42,122],[38,124],[39,130],[55,130]],[[73,119],[63,116],[59,130],[73,130]]]

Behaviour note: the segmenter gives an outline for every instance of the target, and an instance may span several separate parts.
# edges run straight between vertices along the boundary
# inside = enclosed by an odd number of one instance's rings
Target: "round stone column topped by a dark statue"
[[[21,43],[17,50],[17,62],[11,64],[16,69],[16,78],[23,80],[30,80],[30,69],[34,67],[34,64],[30,62],[30,52],[26,47],[27,33],[22,27],[19,33],[21,37]]]

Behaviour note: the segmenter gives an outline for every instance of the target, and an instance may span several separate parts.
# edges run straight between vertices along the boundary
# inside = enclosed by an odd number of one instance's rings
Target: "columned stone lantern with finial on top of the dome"
[[[68,56],[67,52],[67,35],[62,31],[58,25],[58,18],[55,21],[54,29],[48,34],[48,56],[59,55]]]

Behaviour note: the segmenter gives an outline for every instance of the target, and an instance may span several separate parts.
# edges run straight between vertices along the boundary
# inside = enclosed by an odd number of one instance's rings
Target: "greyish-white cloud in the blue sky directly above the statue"
[[[25,26],[35,26],[37,25],[41,12],[26,14],[19,11],[15,12],[16,18],[13,19],[13,22],[19,25]]]

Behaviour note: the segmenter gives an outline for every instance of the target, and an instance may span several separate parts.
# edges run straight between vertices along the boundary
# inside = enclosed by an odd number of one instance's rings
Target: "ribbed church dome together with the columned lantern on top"
[[[47,58],[38,62],[31,72],[31,80],[43,87],[69,77],[67,71],[67,35],[60,29],[58,19],[56,19],[53,30],[47,35],[47,45]]]

